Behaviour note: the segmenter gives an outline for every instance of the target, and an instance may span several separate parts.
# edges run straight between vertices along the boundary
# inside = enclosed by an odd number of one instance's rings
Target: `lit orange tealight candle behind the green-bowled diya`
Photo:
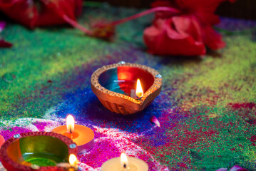
[[[78,155],[88,152],[94,145],[94,133],[91,128],[83,125],[75,125],[75,120],[72,115],[66,118],[66,125],[59,126],[52,130],[54,133],[59,133],[71,138],[78,145]]]

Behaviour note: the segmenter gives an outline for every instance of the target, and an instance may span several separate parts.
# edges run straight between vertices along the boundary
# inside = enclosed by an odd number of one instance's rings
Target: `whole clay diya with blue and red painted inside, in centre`
[[[138,82],[142,93],[136,92]],[[161,91],[162,76],[148,66],[122,61],[98,68],[91,76],[91,88],[108,110],[129,115],[153,102]]]

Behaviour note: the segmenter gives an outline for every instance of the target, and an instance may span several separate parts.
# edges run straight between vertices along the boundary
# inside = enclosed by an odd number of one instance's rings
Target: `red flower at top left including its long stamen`
[[[114,27],[111,25],[100,24],[89,30],[78,24],[76,16],[81,14],[81,9],[82,0],[0,0],[0,11],[31,29],[68,23],[88,36],[105,39],[113,36]]]

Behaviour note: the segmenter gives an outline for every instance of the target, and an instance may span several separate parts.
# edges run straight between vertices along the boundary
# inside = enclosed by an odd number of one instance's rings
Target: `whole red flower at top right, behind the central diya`
[[[205,46],[213,50],[224,48],[225,42],[212,28],[220,22],[214,12],[222,1],[225,0],[155,1],[153,7],[173,7],[181,14],[156,13],[153,26],[146,28],[143,35],[148,51],[159,55],[198,56],[205,54]]]

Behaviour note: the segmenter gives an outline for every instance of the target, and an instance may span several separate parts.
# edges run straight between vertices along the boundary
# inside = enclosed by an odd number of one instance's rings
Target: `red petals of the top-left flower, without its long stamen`
[[[29,28],[65,24],[81,14],[81,0],[0,0],[0,11]]]

